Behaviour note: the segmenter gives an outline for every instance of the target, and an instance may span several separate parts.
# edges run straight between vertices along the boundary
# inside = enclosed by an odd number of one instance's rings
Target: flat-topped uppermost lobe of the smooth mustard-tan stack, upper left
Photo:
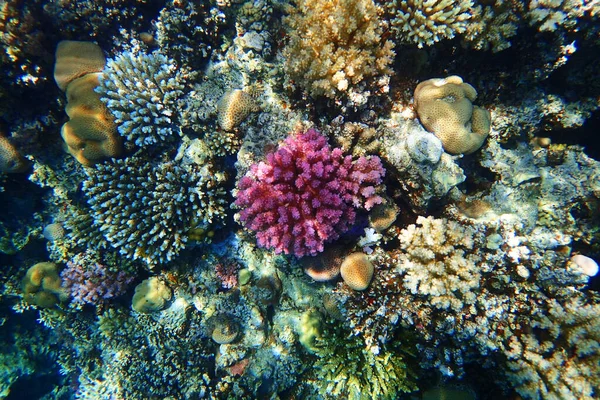
[[[75,79],[93,72],[102,72],[106,60],[102,49],[92,42],[63,40],[56,46],[54,80],[66,90]]]

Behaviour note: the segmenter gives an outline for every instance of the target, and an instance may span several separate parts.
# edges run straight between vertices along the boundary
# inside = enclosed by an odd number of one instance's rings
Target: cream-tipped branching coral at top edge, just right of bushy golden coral
[[[419,48],[465,32],[473,17],[472,1],[408,0],[386,2],[392,31]]]

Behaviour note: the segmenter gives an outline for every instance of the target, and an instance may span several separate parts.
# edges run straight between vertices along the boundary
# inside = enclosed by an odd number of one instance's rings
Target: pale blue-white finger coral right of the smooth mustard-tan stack
[[[183,88],[183,75],[165,55],[125,52],[108,60],[96,91],[115,116],[119,134],[144,147],[178,133],[176,108]]]

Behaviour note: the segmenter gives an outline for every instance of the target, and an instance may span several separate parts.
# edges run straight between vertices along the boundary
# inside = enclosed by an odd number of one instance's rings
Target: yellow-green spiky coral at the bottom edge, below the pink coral
[[[328,326],[316,343],[313,370],[326,399],[395,399],[399,392],[416,389],[414,372],[398,345],[374,354],[359,337],[334,326]]]

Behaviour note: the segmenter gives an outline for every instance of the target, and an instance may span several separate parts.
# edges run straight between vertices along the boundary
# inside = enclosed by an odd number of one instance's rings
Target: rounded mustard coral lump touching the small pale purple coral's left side
[[[23,281],[23,299],[38,307],[53,307],[67,299],[61,287],[58,266],[51,262],[35,264],[27,270]]]

